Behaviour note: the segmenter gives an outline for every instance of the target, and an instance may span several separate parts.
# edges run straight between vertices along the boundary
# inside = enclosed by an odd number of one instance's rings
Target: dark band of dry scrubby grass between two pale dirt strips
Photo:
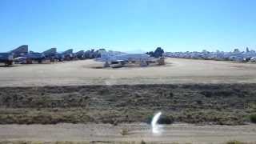
[[[149,122],[242,125],[256,114],[256,84],[2,87],[0,124]]]

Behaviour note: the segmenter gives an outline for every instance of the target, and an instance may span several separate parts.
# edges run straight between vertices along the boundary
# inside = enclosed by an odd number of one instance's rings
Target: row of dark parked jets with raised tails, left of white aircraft
[[[10,66],[13,62],[30,64],[34,61],[42,63],[45,60],[49,60],[50,62],[64,61],[72,60],[74,58],[84,58],[84,54],[83,50],[73,53],[72,49],[58,53],[56,48],[51,48],[50,50],[38,53],[29,51],[28,45],[22,45],[9,52],[0,53],[0,63],[5,63],[6,66]]]

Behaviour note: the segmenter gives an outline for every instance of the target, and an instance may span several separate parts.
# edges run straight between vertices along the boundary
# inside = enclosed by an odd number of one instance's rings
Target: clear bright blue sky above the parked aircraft
[[[0,0],[0,51],[256,50],[255,0]]]

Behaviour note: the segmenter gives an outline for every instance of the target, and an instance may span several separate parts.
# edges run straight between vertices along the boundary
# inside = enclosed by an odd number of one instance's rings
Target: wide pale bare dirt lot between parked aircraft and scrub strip
[[[256,82],[256,64],[167,58],[166,66],[96,69],[94,60],[0,67],[0,86]]]

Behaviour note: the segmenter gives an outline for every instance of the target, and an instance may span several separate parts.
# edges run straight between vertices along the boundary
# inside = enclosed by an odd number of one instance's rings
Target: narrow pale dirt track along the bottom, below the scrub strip
[[[122,131],[126,130],[126,134]],[[161,133],[153,134],[144,123],[120,124],[58,124],[0,125],[2,141],[35,142],[155,142],[155,143],[224,143],[232,140],[256,142],[256,125],[195,126],[185,123],[162,125]]]

